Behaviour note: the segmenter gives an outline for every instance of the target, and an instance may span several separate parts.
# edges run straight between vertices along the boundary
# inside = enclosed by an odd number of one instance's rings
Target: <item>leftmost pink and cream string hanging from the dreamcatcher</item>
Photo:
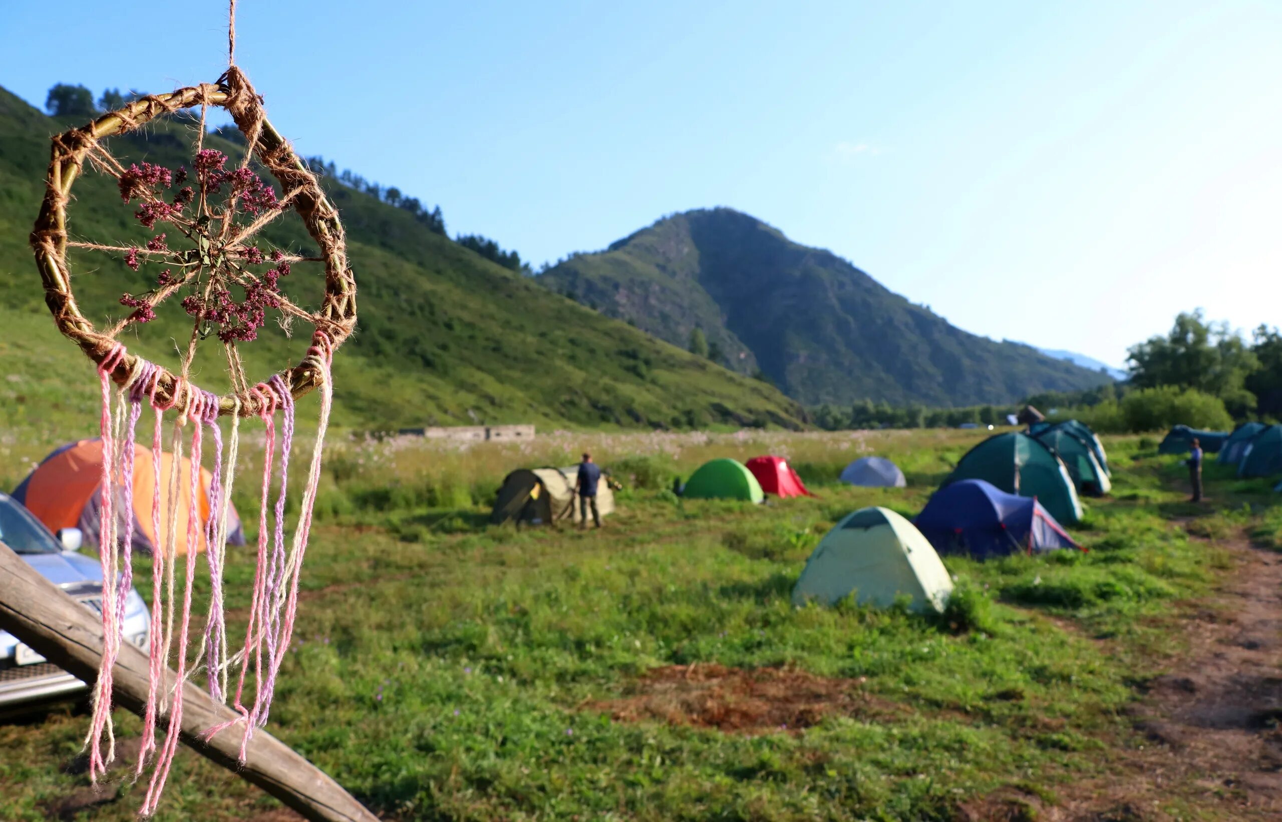
[[[103,573],[103,659],[99,663],[97,680],[94,684],[94,710],[90,719],[88,735],[85,737],[85,746],[88,748],[88,773],[90,781],[97,782],[100,773],[106,772],[106,763],[115,754],[114,728],[112,726],[112,641],[119,632],[117,610],[114,607],[115,592],[115,545],[113,516],[113,441],[112,441],[112,372],[124,358],[124,346],[114,344],[110,353],[97,367],[97,378],[101,386],[101,413],[99,415],[99,431],[103,444],[103,469],[99,477],[100,510],[97,530],[97,557]],[[106,757],[103,755],[103,736],[110,737]]]

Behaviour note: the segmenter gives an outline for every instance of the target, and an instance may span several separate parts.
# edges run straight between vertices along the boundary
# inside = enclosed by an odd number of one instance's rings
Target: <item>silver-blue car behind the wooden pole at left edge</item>
[[[63,528],[54,536],[22,503],[0,494],[0,541],[69,596],[103,613],[103,567],[77,553],[83,541],[79,528]],[[147,604],[131,587],[124,600],[124,639],[146,650],[150,619]],[[79,696],[87,690],[88,685],[0,631],[0,709]]]

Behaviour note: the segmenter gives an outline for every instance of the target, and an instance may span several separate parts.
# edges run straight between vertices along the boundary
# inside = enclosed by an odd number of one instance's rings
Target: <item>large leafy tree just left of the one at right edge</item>
[[[1228,323],[1206,322],[1201,309],[1181,312],[1167,336],[1132,346],[1127,362],[1137,389],[1194,389],[1219,398],[1238,417],[1255,408],[1246,378],[1259,359]]]

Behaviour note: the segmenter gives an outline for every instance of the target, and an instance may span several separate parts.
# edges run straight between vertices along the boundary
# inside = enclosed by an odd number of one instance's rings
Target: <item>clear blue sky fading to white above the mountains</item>
[[[36,104],[226,67],[221,0],[67,0],[56,67],[47,8],[6,5]],[[536,264],[728,205],[1110,364],[1182,309],[1282,321],[1278,3],[241,0],[237,29],[300,151]]]

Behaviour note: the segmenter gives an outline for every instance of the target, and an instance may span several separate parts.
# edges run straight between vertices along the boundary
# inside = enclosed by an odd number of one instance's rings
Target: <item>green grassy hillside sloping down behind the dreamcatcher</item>
[[[0,88],[0,382],[6,424],[94,424],[96,380],[74,345],[54,328],[27,245],[44,194],[49,136],[78,122],[58,122]],[[287,123],[278,123],[287,126]],[[192,123],[153,123],[112,140],[128,162],[171,168],[191,164]],[[205,146],[235,156],[240,146],[210,135]],[[733,373],[683,346],[549,292],[529,277],[483,259],[394,208],[337,181],[324,186],[340,208],[347,254],[359,283],[359,328],[335,358],[338,424],[365,428],[533,422],[541,426],[617,424],[688,427],[712,423],[796,427],[801,408],[759,380]],[[145,242],[121,203],[115,181],[86,173],[73,189],[69,230],[114,245]],[[271,241],[306,250],[310,239],[294,215],[268,228]],[[96,256],[90,256],[96,255]],[[319,277],[303,263],[285,285],[294,296],[319,294]],[[132,272],[115,255],[86,251],[73,259],[74,287],[95,323],[119,315],[122,292],[149,287],[155,272]],[[318,268],[313,268],[318,272]],[[171,303],[174,303],[171,305]],[[174,340],[190,324],[176,300],[135,337],[131,350],[173,364]],[[305,333],[290,337],[272,323],[244,346],[251,378],[265,380],[297,362]],[[217,389],[222,351],[206,346],[196,373]],[[314,400],[309,400],[314,401]]]

